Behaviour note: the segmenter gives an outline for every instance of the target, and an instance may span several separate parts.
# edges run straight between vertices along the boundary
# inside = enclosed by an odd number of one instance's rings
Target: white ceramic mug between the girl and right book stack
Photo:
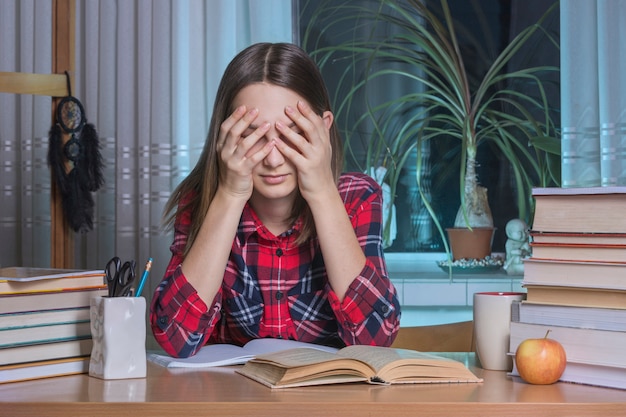
[[[478,292],[474,294],[474,340],[484,369],[510,371],[508,355],[511,304],[526,299],[523,292]]]

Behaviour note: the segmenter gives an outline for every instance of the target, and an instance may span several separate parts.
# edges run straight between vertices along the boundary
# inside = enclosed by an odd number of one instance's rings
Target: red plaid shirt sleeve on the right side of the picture
[[[362,178],[362,179],[361,179]],[[342,301],[332,290],[329,301],[346,345],[390,346],[400,328],[400,303],[387,275],[382,241],[382,191],[363,175],[341,183],[344,198],[366,263]]]

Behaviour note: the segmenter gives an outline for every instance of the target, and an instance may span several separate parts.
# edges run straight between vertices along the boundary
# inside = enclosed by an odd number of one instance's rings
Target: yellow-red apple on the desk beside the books
[[[563,345],[554,339],[526,339],[517,347],[515,366],[520,377],[529,384],[547,385],[559,380],[565,371]]]

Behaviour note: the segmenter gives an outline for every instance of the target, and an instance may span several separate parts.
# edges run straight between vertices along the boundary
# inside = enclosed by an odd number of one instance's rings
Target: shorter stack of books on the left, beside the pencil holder
[[[88,371],[103,271],[0,269],[0,383]]]

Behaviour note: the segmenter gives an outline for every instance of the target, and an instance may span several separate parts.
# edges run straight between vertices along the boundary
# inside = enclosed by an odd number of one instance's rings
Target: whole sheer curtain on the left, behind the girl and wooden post
[[[76,266],[113,255],[169,261],[165,201],[194,166],[226,64],[259,41],[292,41],[291,0],[76,1],[72,93],[98,130],[106,184]],[[0,71],[50,73],[49,1],[2,0]],[[50,98],[0,94],[0,265],[49,266]],[[141,271],[139,271],[141,272]]]

